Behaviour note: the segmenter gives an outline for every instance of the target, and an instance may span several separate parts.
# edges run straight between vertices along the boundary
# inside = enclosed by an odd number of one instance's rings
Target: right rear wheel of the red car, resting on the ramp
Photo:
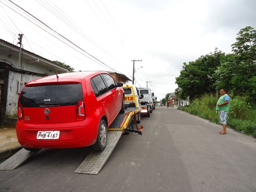
[[[107,141],[108,141],[107,124],[102,119],[102,120],[100,120],[96,143],[92,146],[93,150],[94,151],[103,151],[107,146]]]

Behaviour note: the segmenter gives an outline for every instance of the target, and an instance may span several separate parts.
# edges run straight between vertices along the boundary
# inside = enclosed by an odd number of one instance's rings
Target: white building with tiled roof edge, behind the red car
[[[0,39],[0,124],[6,117],[17,116],[18,96],[24,85],[36,78],[67,73],[68,68]],[[54,70],[53,70],[54,69]]]

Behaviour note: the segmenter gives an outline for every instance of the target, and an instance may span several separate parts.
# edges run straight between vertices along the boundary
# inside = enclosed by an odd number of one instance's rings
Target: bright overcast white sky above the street
[[[214,52],[215,47],[231,53],[231,44],[240,29],[256,28],[256,0],[12,2],[107,66],[35,21],[9,0],[0,0],[1,39],[16,45],[18,34],[22,33],[24,49],[64,62],[76,71],[114,69],[132,79],[131,60],[142,60],[135,62],[136,86],[146,87],[148,81],[158,100],[177,88],[175,77],[179,76],[183,62]]]

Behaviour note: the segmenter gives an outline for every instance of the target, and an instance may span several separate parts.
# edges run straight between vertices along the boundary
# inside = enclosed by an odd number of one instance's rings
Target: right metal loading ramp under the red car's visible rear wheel
[[[113,152],[123,131],[108,131],[108,142],[104,151],[92,151],[76,169],[75,173],[98,174]]]

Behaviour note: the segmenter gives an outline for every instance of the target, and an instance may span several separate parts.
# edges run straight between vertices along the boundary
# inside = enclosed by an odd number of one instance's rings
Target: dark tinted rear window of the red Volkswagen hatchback
[[[19,102],[23,107],[71,106],[82,98],[81,84],[54,84],[24,87]]]

